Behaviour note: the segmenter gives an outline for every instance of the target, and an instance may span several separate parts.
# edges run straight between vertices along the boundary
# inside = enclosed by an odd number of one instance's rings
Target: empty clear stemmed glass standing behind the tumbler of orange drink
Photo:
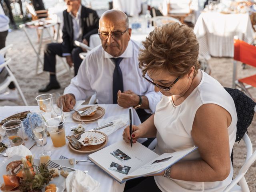
[[[52,93],[50,96],[50,102],[52,107],[52,117],[61,117],[62,116],[62,100],[59,93]]]

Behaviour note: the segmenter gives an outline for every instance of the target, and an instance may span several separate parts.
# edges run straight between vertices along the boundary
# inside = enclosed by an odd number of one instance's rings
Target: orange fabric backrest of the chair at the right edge
[[[256,67],[256,46],[234,37],[234,60]]]

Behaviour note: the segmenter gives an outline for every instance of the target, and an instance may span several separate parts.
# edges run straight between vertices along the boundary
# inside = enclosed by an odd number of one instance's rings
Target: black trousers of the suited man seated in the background
[[[62,57],[62,46],[61,43],[50,43],[46,45],[44,50],[44,71],[56,73],[56,55]],[[80,47],[74,47],[71,52],[75,76],[82,62],[82,59],[79,57],[81,52],[83,51]]]

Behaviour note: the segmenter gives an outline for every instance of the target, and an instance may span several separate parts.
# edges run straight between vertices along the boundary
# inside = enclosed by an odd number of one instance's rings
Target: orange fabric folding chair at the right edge
[[[237,36],[234,36],[234,66],[232,88],[236,88],[236,86],[238,86],[245,92],[245,94],[252,98],[252,95],[248,91],[248,88],[256,87],[256,74],[249,77],[237,79],[236,61],[240,61],[242,63],[256,67],[256,46],[250,45],[242,40],[239,40]],[[245,86],[244,84],[247,85]]]

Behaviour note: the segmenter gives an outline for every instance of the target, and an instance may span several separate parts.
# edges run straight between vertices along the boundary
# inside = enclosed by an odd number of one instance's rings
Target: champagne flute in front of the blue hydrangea
[[[44,150],[44,138],[47,135],[46,128],[44,126],[44,120],[42,118],[42,114],[40,112],[34,112],[33,116],[29,117],[30,125],[32,132],[36,139],[38,139],[41,142],[42,146],[42,153],[40,153],[38,156],[51,156],[52,152],[48,150]],[[46,138],[47,140],[47,138]]]

